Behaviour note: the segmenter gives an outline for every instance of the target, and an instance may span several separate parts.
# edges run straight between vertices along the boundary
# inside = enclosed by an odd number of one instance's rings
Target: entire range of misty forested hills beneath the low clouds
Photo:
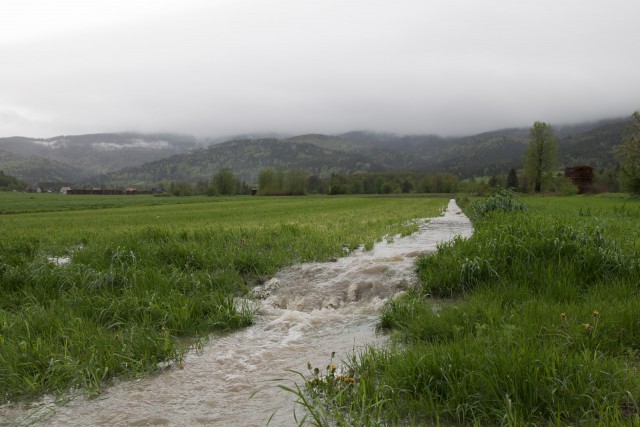
[[[615,168],[615,146],[628,119],[556,126],[559,167]],[[528,128],[473,136],[398,136],[349,132],[289,138],[241,138],[203,146],[190,136],[94,134],[49,139],[0,138],[0,170],[29,183],[154,185],[160,181],[210,179],[231,168],[255,183],[265,168],[304,169],[320,177],[332,173],[446,171],[460,178],[519,169]]]

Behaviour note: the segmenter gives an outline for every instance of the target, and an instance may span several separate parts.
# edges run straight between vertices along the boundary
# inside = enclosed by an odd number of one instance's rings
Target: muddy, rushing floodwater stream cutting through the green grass
[[[286,370],[308,376],[307,361],[324,371],[331,352],[339,362],[366,345],[384,345],[374,331],[378,313],[386,299],[415,282],[416,257],[473,232],[453,200],[443,216],[417,221],[418,232],[371,251],[280,271],[254,291],[260,298],[255,324],[212,336],[198,354],[186,356],[184,369],[174,365],[116,383],[91,400],[57,405],[43,399],[28,409],[5,405],[0,425],[264,426],[272,416],[270,425],[295,425],[294,396],[275,387],[292,383],[268,380],[301,384]]]

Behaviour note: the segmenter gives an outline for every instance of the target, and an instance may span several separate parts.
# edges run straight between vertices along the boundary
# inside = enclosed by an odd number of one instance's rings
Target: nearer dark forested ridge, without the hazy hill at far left
[[[577,164],[597,168],[616,163],[614,147],[627,120],[558,128],[559,167]],[[443,138],[368,132],[301,135],[293,138],[241,139],[105,174],[106,184],[142,184],[163,180],[196,182],[222,168],[247,183],[257,182],[265,168],[305,169],[311,175],[384,170],[447,171],[460,177],[506,173],[522,167],[529,140],[526,128]]]

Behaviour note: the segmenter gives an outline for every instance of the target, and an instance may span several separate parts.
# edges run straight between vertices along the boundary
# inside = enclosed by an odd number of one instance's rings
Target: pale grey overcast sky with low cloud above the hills
[[[636,109],[638,0],[0,3],[0,137],[464,135]]]

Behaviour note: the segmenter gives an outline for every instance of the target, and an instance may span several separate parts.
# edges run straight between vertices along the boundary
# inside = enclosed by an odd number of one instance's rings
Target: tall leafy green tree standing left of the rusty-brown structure
[[[551,125],[535,122],[529,130],[531,140],[524,166],[527,177],[533,182],[536,193],[542,190],[542,179],[545,174],[556,168],[558,146]]]

